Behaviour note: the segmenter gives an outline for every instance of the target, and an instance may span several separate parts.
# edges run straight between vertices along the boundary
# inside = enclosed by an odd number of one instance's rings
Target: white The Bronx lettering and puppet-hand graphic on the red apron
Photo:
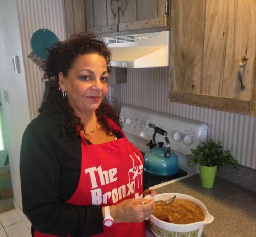
[[[131,194],[134,194],[134,198],[139,199],[143,198],[143,194],[139,195],[139,193],[135,193],[137,188],[142,187],[142,172],[143,165],[140,157],[136,155],[134,152],[134,157],[129,155],[132,159],[133,166],[128,170],[128,178],[129,183],[121,185],[118,188],[114,188],[112,190],[108,190],[105,193],[102,193],[102,189],[100,187],[105,186],[107,184],[113,183],[117,181],[117,168],[112,168],[109,170],[102,170],[102,167],[90,167],[85,169],[85,174],[90,177],[91,181],[91,198],[92,205],[101,205],[101,204],[111,204],[117,203],[118,200],[125,198]],[[135,161],[139,161],[139,165],[135,165]],[[138,162],[136,162],[138,163]],[[122,172],[122,171],[119,171]],[[97,182],[98,181],[98,182]]]

